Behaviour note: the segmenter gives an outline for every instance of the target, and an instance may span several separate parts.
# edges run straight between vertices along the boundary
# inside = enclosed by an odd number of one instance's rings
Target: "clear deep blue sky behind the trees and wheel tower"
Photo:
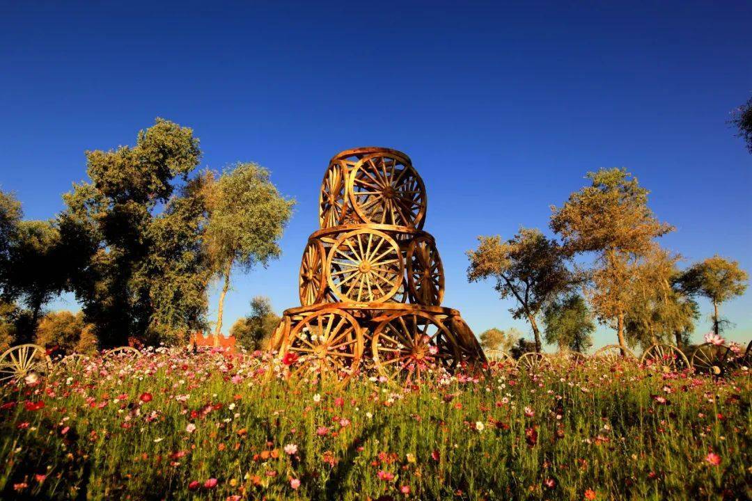
[[[749,2],[250,3],[0,0],[2,189],[50,218],[85,178],[84,150],[132,144],[156,116],[192,127],[211,168],[265,165],[298,206],[283,258],[235,276],[227,327],[256,294],[297,306],[323,171],[355,146],[413,158],[444,304],[477,333],[528,328],[490,283],[467,283],[465,251],[547,228],[550,204],[600,167],[653,191],[684,265],[717,252],[752,271],[752,155],[726,123],[752,92]],[[722,311],[732,340],[752,338],[752,292]]]

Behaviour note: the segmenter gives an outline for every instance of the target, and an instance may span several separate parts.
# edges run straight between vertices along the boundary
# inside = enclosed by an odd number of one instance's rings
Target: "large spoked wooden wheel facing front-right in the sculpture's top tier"
[[[347,177],[347,192],[365,223],[423,226],[426,187],[412,164],[399,155],[378,153],[359,160]]]

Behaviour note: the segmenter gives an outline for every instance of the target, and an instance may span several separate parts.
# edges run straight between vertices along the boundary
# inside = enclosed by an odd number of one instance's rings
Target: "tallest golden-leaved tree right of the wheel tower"
[[[673,228],[653,216],[648,190],[625,169],[589,172],[587,179],[590,186],[569,195],[562,207],[551,207],[551,229],[567,254],[594,253],[586,295],[599,321],[614,327],[626,348],[624,317],[634,297],[635,267],[654,239]]]

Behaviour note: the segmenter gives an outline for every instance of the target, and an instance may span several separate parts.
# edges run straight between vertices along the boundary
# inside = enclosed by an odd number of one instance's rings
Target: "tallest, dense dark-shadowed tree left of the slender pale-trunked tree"
[[[64,195],[59,216],[69,284],[104,347],[129,337],[156,342],[186,333],[205,315],[202,198],[180,186],[201,158],[190,128],[156,119],[135,146],[86,152],[90,182]],[[185,210],[185,205],[192,206]],[[200,295],[200,294],[199,294]]]

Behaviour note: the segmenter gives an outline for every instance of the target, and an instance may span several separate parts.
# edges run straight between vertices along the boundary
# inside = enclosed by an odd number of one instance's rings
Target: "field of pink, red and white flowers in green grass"
[[[6,386],[2,499],[749,499],[752,392],[636,364],[270,377],[159,349]],[[279,367],[277,367],[278,373]]]

